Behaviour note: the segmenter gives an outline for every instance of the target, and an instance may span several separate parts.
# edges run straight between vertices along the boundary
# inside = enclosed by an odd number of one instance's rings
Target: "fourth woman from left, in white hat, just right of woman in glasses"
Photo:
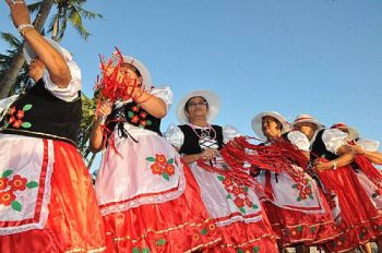
[[[266,140],[264,146],[279,149],[283,156],[300,154],[303,158],[309,157],[308,138],[298,131],[290,131],[289,123],[278,112],[259,113],[251,124],[254,133]],[[296,147],[290,144],[289,148],[279,146],[285,141]],[[263,206],[279,245],[295,245],[298,252],[305,252],[303,245],[322,244],[336,237],[331,209],[315,181],[306,172],[307,162],[270,159],[277,164],[280,172],[261,170],[256,180],[272,192],[271,197],[263,198]]]

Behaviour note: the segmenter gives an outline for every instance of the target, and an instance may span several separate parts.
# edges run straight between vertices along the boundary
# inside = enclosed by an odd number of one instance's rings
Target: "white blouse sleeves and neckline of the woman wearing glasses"
[[[200,128],[198,125],[194,125],[195,129],[207,129],[207,128]],[[180,148],[184,143],[184,133],[181,131],[179,126],[171,123],[166,132],[163,134],[164,137],[169,142],[172,146],[176,146]],[[239,131],[232,126],[232,125],[224,125],[223,126],[223,142],[227,143],[230,140],[240,136],[241,134]]]

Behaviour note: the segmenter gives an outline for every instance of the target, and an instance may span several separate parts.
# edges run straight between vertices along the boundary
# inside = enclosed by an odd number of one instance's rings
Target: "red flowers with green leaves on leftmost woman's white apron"
[[[23,192],[26,189],[34,189],[38,186],[35,181],[27,181],[20,174],[14,174],[10,180],[13,170],[7,169],[0,177],[0,206],[11,206],[14,210],[21,212],[22,203],[16,200],[15,192]]]

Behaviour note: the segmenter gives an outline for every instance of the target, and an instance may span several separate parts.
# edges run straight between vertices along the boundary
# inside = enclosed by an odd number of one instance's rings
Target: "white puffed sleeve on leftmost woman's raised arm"
[[[47,69],[44,69],[43,80],[45,87],[56,97],[65,100],[73,101],[79,97],[79,91],[81,89],[81,70],[74,61],[68,61],[70,74],[72,80],[65,88],[60,88],[51,80]]]

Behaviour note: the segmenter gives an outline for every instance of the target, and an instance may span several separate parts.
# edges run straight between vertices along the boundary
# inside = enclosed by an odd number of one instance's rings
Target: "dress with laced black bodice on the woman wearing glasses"
[[[206,147],[217,149],[222,147],[219,140],[227,142],[237,134],[234,128],[227,126],[172,124],[165,136],[183,155],[188,155],[200,153],[201,148]],[[192,162],[190,168],[201,190],[203,203],[223,233],[219,249],[213,252],[278,252],[274,232],[256,194],[239,181],[218,172],[229,170],[222,157],[212,160],[211,166],[216,172],[201,168],[198,162]]]

